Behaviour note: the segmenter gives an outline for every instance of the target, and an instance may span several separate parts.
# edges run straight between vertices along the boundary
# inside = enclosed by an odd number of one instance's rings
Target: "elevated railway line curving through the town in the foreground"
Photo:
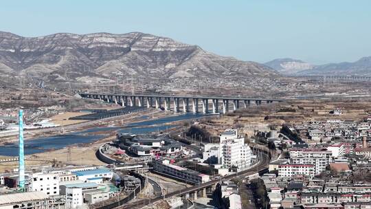
[[[203,183],[203,184],[195,185],[195,186],[192,186],[190,188],[184,188],[182,190],[177,190],[175,192],[170,192],[170,193],[166,194],[165,197],[164,197],[164,195],[161,195],[160,197],[153,198],[153,199],[142,199],[142,200],[139,200],[139,201],[136,201],[136,202],[133,202],[133,203],[125,204],[125,205],[117,207],[117,208],[143,208],[144,206],[148,205],[148,202],[155,202],[155,201],[159,201],[161,199],[168,198],[168,197],[184,195],[184,194],[187,194],[189,192],[199,190],[201,188],[212,186],[214,184],[217,184],[219,181],[227,181],[227,180],[230,180],[230,179],[234,179],[235,177],[245,177],[245,176],[248,176],[248,175],[253,175],[255,173],[258,173],[259,170],[263,170],[263,169],[267,168],[269,162],[270,162],[270,159],[269,159],[267,153],[262,153],[262,155],[260,155],[260,161],[253,168],[249,168],[247,170],[243,170],[243,171],[240,171],[238,173],[234,173],[232,175],[226,175],[225,177],[221,177],[221,179],[214,179],[212,181],[208,181],[208,182]]]

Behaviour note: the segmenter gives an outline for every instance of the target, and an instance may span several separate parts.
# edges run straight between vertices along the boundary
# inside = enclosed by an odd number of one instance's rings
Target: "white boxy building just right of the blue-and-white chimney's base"
[[[45,195],[59,195],[59,177],[55,173],[34,173],[30,179],[30,191],[41,191]]]

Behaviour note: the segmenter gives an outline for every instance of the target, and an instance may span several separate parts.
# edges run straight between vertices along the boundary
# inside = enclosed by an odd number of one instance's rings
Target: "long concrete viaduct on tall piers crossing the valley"
[[[261,99],[261,98],[234,98],[234,97],[220,97],[220,96],[166,96],[166,95],[133,95],[133,94],[93,94],[80,93],[81,98],[89,98],[96,100],[104,100],[106,102],[114,102],[125,106],[139,106],[144,107],[144,100],[146,100],[146,107],[161,108],[170,111],[172,110],[188,112],[190,111],[190,104],[192,104],[193,113],[227,113],[229,111],[229,103],[232,102],[233,110],[240,108],[240,103],[247,108],[250,104],[260,105],[263,102],[266,104],[272,102],[282,102],[280,99]],[[209,102],[211,101],[211,102]],[[162,103],[163,102],[163,103]],[[201,102],[201,104],[200,104]],[[173,104],[173,105],[171,105]],[[210,105],[211,104],[211,105]],[[201,111],[199,107],[202,107]],[[212,111],[210,111],[210,107]]]

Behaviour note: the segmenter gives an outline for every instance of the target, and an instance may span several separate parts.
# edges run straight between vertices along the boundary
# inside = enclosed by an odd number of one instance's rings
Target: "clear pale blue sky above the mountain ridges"
[[[315,65],[371,56],[371,1],[2,1],[0,31],[144,32],[243,61]]]

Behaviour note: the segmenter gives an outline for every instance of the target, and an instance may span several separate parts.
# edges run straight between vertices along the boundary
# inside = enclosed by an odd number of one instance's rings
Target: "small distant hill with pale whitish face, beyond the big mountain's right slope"
[[[264,65],[267,65],[282,74],[293,74],[295,72],[313,68],[313,65],[309,63],[292,58],[278,58],[268,63],[264,63]]]

